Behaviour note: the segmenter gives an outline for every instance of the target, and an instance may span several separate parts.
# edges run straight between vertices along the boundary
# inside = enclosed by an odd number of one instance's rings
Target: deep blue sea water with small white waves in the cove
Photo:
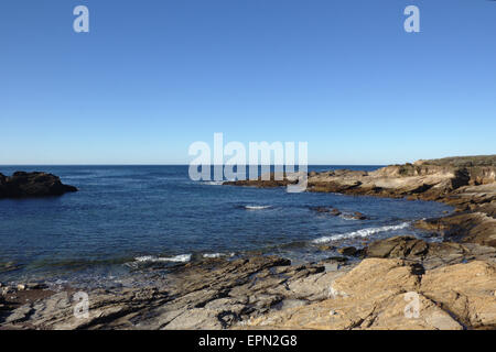
[[[332,168],[343,166],[309,167]],[[247,251],[315,261],[333,255],[320,250],[322,244],[360,246],[382,237],[422,235],[409,227],[412,220],[451,210],[435,202],[192,182],[187,166],[0,166],[4,175],[18,169],[53,173],[79,191],[0,200],[0,265],[19,266],[0,268],[0,282],[108,276],[150,263]],[[322,215],[310,209],[315,206],[360,211],[371,219]]]

